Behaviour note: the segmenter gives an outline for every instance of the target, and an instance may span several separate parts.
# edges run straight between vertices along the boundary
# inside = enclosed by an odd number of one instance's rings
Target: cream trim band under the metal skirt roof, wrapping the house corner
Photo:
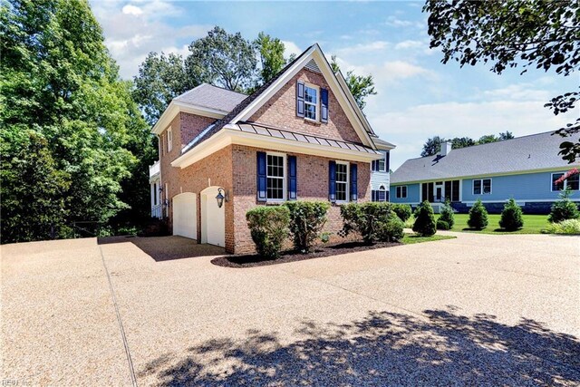
[[[196,151],[188,150],[171,161],[172,167],[186,168],[189,165],[208,157],[210,154],[227,147],[230,144],[247,145],[253,148],[273,149],[288,153],[303,153],[314,156],[335,159],[340,156],[343,160],[371,162],[381,157],[377,153],[363,153],[358,150],[345,150],[343,148],[327,147],[324,145],[298,142],[295,140],[280,139],[277,137],[262,136],[255,133],[238,131],[237,129],[222,128],[208,140],[203,142],[203,147],[194,147]]]

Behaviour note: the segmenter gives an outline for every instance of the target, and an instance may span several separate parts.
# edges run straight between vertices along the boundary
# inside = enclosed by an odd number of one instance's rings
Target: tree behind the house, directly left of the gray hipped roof
[[[173,98],[198,86],[199,80],[189,75],[181,55],[147,55],[139,66],[139,75],[134,77],[133,96],[150,125],[159,120]]]

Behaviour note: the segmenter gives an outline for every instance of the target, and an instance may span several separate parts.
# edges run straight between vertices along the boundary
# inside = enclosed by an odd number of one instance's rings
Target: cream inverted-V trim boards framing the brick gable
[[[300,72],[300,70],[304,68],[304,65],[311,59],[314,59],[314,62],[320,68],[324,79],[328,83],[328,86],[330,87],[349,121],[351,124],[353,124],[353,128],[358,133],[362,143],[368,147],[371,147],[373,150],[376,149],[376,146],[374,145],[374,142],[372,142],[369,133],[366,131],[360,116],[356,113],[352,103],[349,102],[347,93],[341,87],[340,82],[338,81],[336,75],[333,73],[333,70],[330,68],[330,64],[328,64],[326,58],[324,58],[324,54],[322,53],[322,50],[318,44],[314,44],[312,47],[310,47],[310,49],[303,54],[303,57],[299,61],[295,62],[290,68],[288,68],[282,76],[280,76],[277,80],[275,80],[275,82],[268,86],[266,90],[256,98],[256,100],[247,105],[247,107],[243,111],[240,111],[236,117],[229,121],[229,123],[237,123],[238,121],[249,120],[250,117],[252,117],[252,115],[254,115],[254,113],[260,107],[262,107],[262,105],[264,105],[264,103],[269,101],[276,92],[284,87],[284,85],[290,81],[296,73]]]

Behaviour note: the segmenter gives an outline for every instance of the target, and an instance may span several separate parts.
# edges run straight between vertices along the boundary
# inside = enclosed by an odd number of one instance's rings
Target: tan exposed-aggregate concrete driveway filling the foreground
[[[3,246],[0,380],[580,384],[580,238],[455,235],[247,269],[180,237]]]

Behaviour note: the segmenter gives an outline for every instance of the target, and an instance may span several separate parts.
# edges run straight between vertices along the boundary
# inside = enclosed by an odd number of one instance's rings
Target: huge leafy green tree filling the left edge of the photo
[[[46,158],[43,168],[73,181],[50,194],[64,203],[67,221],[105,222],[130,207],[119,198],[121,182],[137,164],[128,145],[142,136],[146,123],[119,80],[101,27],[86,0],[13,0],[1,6],[0,140],[6,162],[14,162],[3,165],[14,173],[3,174],[2,185],[10,189],[21,182],[21,189],[32,192],[43,184],[40,175],[24,176],[27,169],[18,166],[19,150],[31,142],[26,133],[34,131],[34,138],[46,140],[53,160]],[[45,199],[27,197],[27,204]],[[3,220],[18,222],[4,214]]]

